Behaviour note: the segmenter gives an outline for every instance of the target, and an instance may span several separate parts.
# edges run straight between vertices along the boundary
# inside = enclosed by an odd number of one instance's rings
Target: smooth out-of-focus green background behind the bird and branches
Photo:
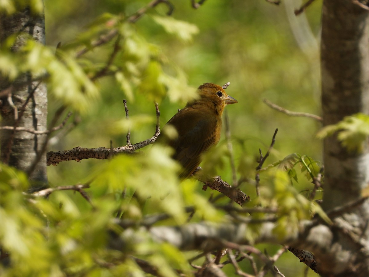
[[[130,16],[149,3],[148,0],[44,2],[46,44],[51,48],[55,48],[58,42],[68,45],[79,39],[89,24],[104,13]],[[180,96],[170,97],[170,94],[163,93],[162,97],[154,99],[144,93],[142,86],[133,86],[132,93],[127,93],[113,81],[113,77],[101,78],[96,81],[100,97],[90,105],[86,114],[75,114],[79,121],[77,126],[62,139],[55,140],[49,150],[61,151],[77,146],[110,147],[110,140],[113,147],[125,145],[125,133],[112,127],[125,117],[123,99],[128,101],[131,117],[146,115],[145,120],[132,126],[131,142],[145,140],[155,131],[154,100],[159,101],[163,126],[177,109],[184,107],[186,102],[181,99],[186,99],[186,94],[191,94],[200,84],[231,82],[227,93],[237,99],[238,104],[226,110],[238,178],[255,178],[259,148],[266,153],[276,128],[276,143],[265,166],[292,153],[321,161],[321,141],[315,139],[320,123],[306,117],[287,116],[263,103],[263,99],[268,99],[288,110],[320,115],[321,1],[315,1],[297,17],[293,11],[301,6],[299,0],[282,0],[279,6],[263,0],[207,0],[197,10],[191,7],[189,0],[172,1],[172,4],[172,17],[186,21],[192,27],[197,26],[192,40],[170,34],[157,24],[155,16],[165,16],[168,10],[164,4],[140,18],[133,30],[135,35],[146,40],[145,47],[165,60],[168,66],[164,66],[164,70],[176,75],[177,85],[172,92]],[[103,63],[110,51],[111,44],[89,52],[83,59]],[[124,58],[124,55],[118,55],[117,63]],[[50,96],[50,117],[59,105],[61,103]],[[224,140],[223,132],[219,147],[225,144]],[[231,182],[230,163],[227,158],[224,161],[224,168],[218,174]],[[49,167],[50,183],[76,184],[105,162],[83,160],[81,163],[72,161]],[[298,191],[312,187],[306,178],[299,178],[301,174],[297,172],[299,182],[293,182]],[[263,181],[263,176],[261,178]],[[252,184],[243,184],[241,190],[255,196]],[[208,191],[200,193],[210,194]],[[262,250],[265,247],[259,246]],[[268,254],[274,254],[278,248],[268,247]],[[283,254],[276,265],[286,276],[306,276],[306,266],[290,253]],[[232,272],[230,268],[229,276]],[[317,275],[308,270],[307,276]]]

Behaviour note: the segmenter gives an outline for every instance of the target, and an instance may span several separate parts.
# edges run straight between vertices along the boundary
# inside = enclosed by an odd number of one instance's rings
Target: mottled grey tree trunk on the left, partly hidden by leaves
[[[45,20],[43,14],[32,14],[29,8],[11,16],[0,17],[0,43],[10,35],[16,35],[11,51],[17,52],[24,45],[24,34],[45,44]],[[1,126],[22,127],[32,131],[46,130],[47,92],[44,84],[32,82],[31,73],[25,73],[14,82],[0,76]],[[31,181],[30,191],[47,185],[46,154],[41,148],[46,134],[26,131],[1,130],[1,162],[27,172]],[[45,152],[45,151],[43,151]]]

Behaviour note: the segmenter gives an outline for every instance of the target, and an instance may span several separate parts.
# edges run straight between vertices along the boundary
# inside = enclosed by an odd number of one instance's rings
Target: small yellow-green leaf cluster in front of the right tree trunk
[[[369,136],[369,116],[357,113],[346,116],[342,121],[334,125],[325,126],[317,133],[318,138],[333,136],[337,133],[337,139],[348,151],[362,152]]]

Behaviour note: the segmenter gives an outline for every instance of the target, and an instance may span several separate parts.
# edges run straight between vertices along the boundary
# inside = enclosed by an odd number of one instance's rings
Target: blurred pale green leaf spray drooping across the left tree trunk
[[[46,78],[49,92],[64,105],[79,112],[86,112],[91,101],[97,97],[97,88],[70,55],[58,49],[56,54],[31,38],[25,37],[18,52],[12,52],[11,45],[16,38],[9,37],[1,47],[0,72],[10,81],[31,72],[34,78]]]

